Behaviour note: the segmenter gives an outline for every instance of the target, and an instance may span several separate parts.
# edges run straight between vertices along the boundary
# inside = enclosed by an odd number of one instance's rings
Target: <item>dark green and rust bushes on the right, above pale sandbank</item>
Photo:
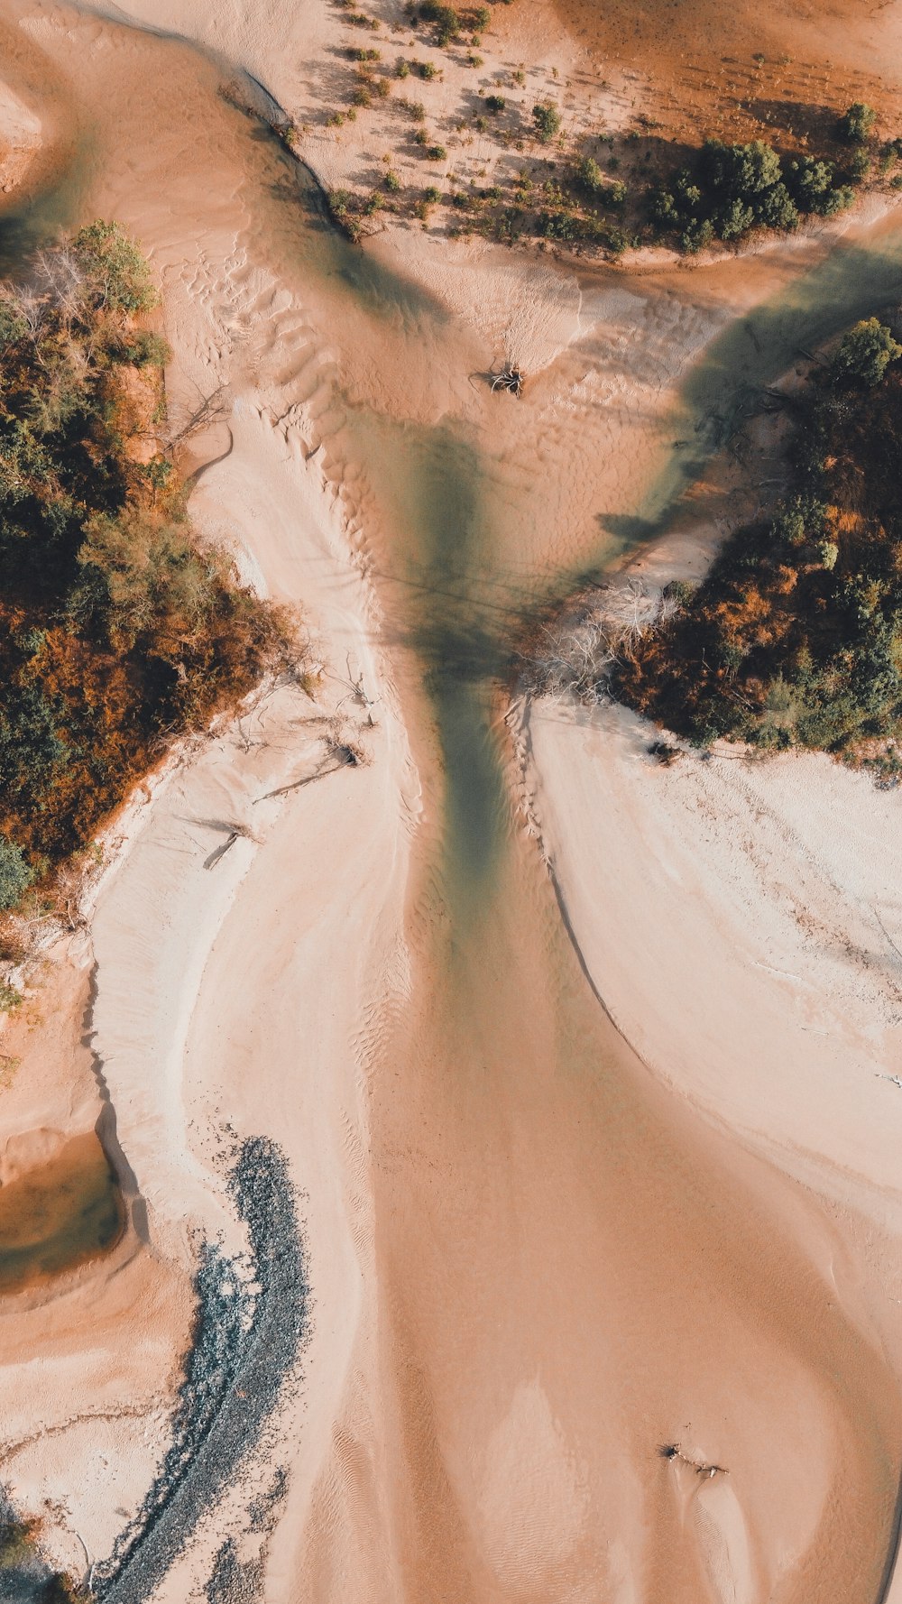
[[[902,345],[855,324],[794,403],[793,484],[615,667],[613,695],[706,746],[841,752],[902,743]]]

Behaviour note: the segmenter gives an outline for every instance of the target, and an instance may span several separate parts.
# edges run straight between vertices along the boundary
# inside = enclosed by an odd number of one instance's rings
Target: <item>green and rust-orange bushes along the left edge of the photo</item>
[[[194,541],[154,303],[116,223],[0,284],[0,908],[291,650],[286,619]]]

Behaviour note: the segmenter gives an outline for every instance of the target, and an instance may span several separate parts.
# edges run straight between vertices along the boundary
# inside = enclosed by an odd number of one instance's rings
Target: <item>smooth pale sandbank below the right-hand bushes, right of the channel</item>
[[[902,800],[725,743],[661,767],[653,738],[626,711],[528,715],[542,844],[605,1006],[656,1075],[799,1174],[828,1160],[897,1229]]]

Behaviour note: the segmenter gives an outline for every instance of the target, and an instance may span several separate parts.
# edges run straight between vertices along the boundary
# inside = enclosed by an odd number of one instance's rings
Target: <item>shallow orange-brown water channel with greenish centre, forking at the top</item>
[[[122,217],[164,284],[183,261],[194,271],[201,241],[210,294],[233,295],[250,330],[236,260],[303,310],[307,354],[286,340],[266,361],[308,404],[329,472],[360,486],[385,650],[435,804],[411,892],[411,1001],[382,1044],[393,1075],[371,1094],[396,1426],[380,1509],[404,1598],[873,1604],[902,1413],[846,1312],[843,1272],[822,1274],[841,1225],[648,1076],[517,816],[512,643],[533,608],[603,576],[624,539],[594,516],[563,525],[554,473],[517,443],[541,430],[530,391],[514,403],[483,387],[473,401],[473,330],[326,228],[289,157],[217,99],[210,63],[104,27],[117,79],[108,66],[104,122],[80,146],[67,205]],[[82,117],[88,93],[103,98],[90,71],[72,87]],[[43,204],[61,215],[59,199]],[[750,391],[900,286],[902,220],[786,269],[774,300],[687,367],[621,518],[645,536],[666,528]],[[313,374],[310,351],[335,354]],[[387,369],[408,364],[411,395],[379,372],[380,351]],[[234,363],[249,383],[238,340]],[[555,427],[567,446],[567,420]],[[589,412],[589,454],[594,427]],[[562,476],[571,462],[562,448]],[[61,1195],[50,1235],[80,1211],[82,1193],[69,1216]],[[22,1251],[43,1229],[37,1205],[30,1225],[26,1214]],[[725,1474],[681,1480],[658,1452],[677,1440]]]

